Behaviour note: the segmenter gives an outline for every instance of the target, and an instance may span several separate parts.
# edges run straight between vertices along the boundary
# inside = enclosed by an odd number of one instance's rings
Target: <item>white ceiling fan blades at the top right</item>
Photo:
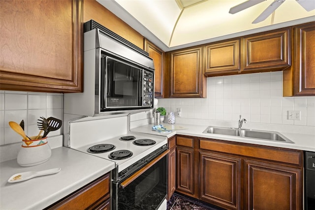
[[[229,13],[235,14],[239,11],[247,9],[253,5],[261,3],[265,0],[247,0],[230,8]],[[259,23],[265,20],[271,13],[273,13],[285,0],[274,0],[252,23]],[[306,11],[315,9],[315,0],[296,0]]]

